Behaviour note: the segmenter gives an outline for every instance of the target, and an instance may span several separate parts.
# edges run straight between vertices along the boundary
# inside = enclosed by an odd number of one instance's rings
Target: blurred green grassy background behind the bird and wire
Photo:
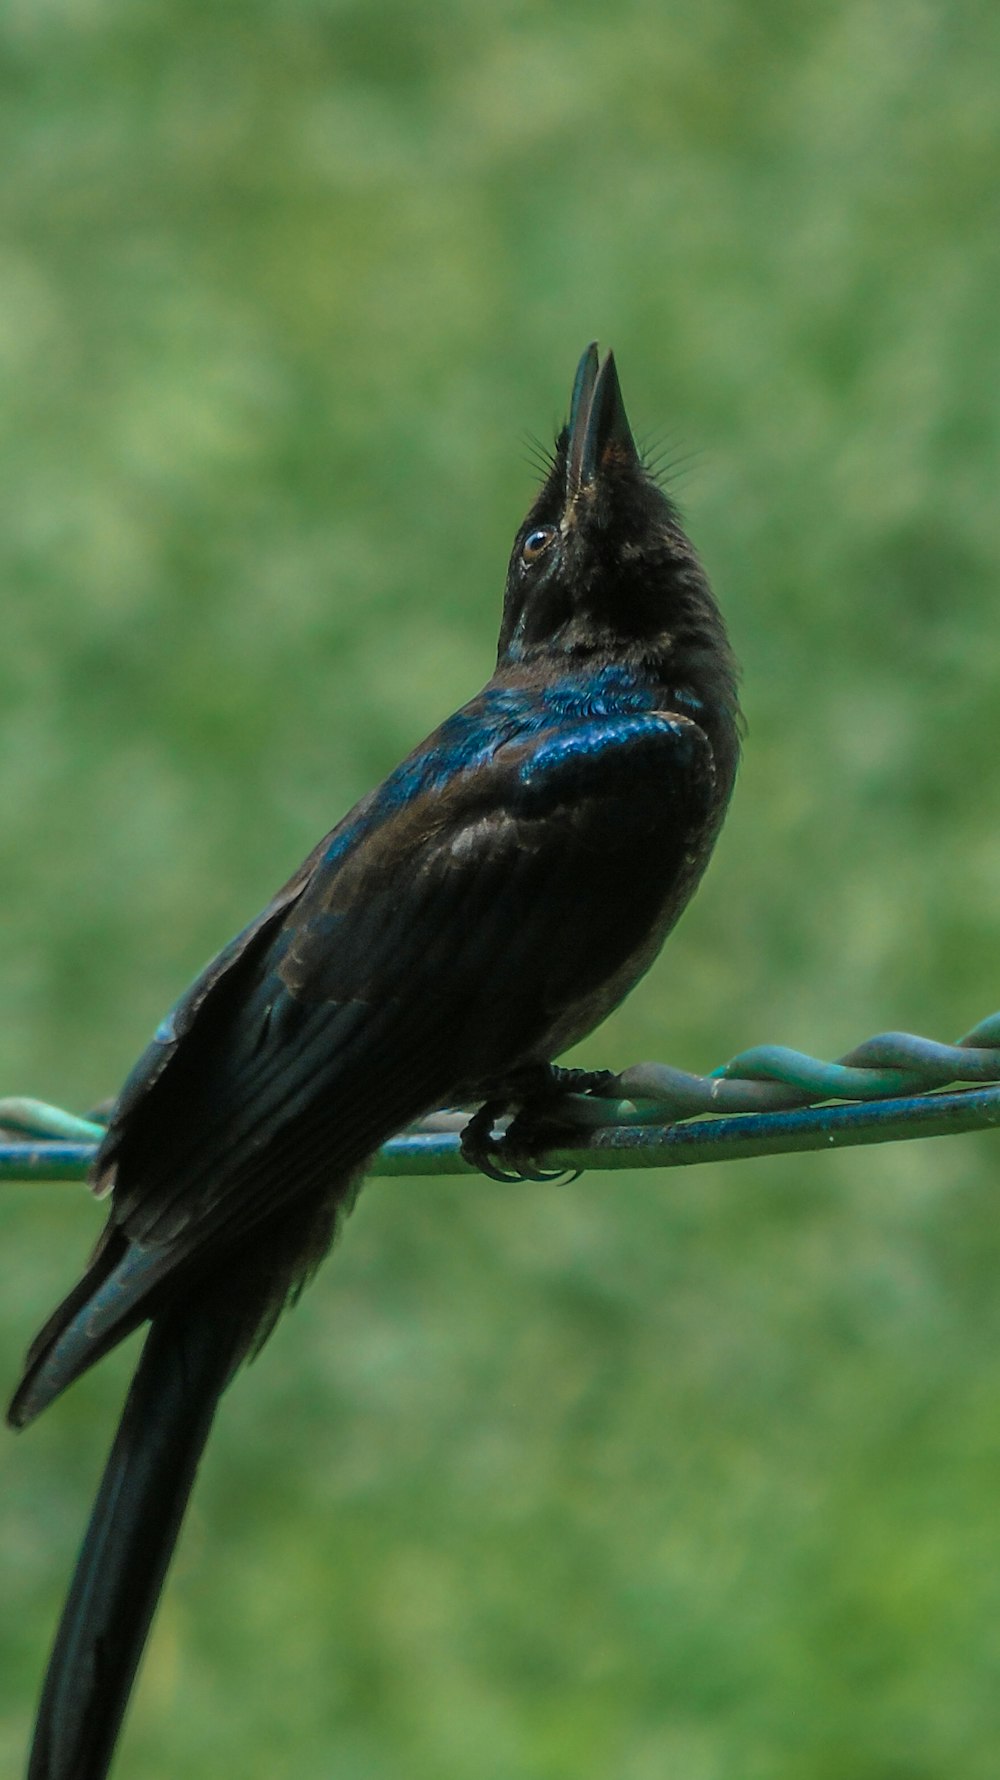
[[[486,678],[593,336],[746,666],[584,1047],[1000,1002],[1000,11],[7,0],[0,1091],[112,1091]],[[996,1143],[372,1185],[231,1390],[132,1780],[995,1780]],[[21,1349],[100,1223],[5,1187]],[[0,1449],[0,1771],[133,1355]]]

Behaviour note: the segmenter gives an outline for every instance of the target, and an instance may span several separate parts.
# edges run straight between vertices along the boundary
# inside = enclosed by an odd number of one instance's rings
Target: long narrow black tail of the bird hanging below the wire
[[[153,1319],[41,1695],[28,1780],[103,1780],[246,1314],[190,1296]]]

